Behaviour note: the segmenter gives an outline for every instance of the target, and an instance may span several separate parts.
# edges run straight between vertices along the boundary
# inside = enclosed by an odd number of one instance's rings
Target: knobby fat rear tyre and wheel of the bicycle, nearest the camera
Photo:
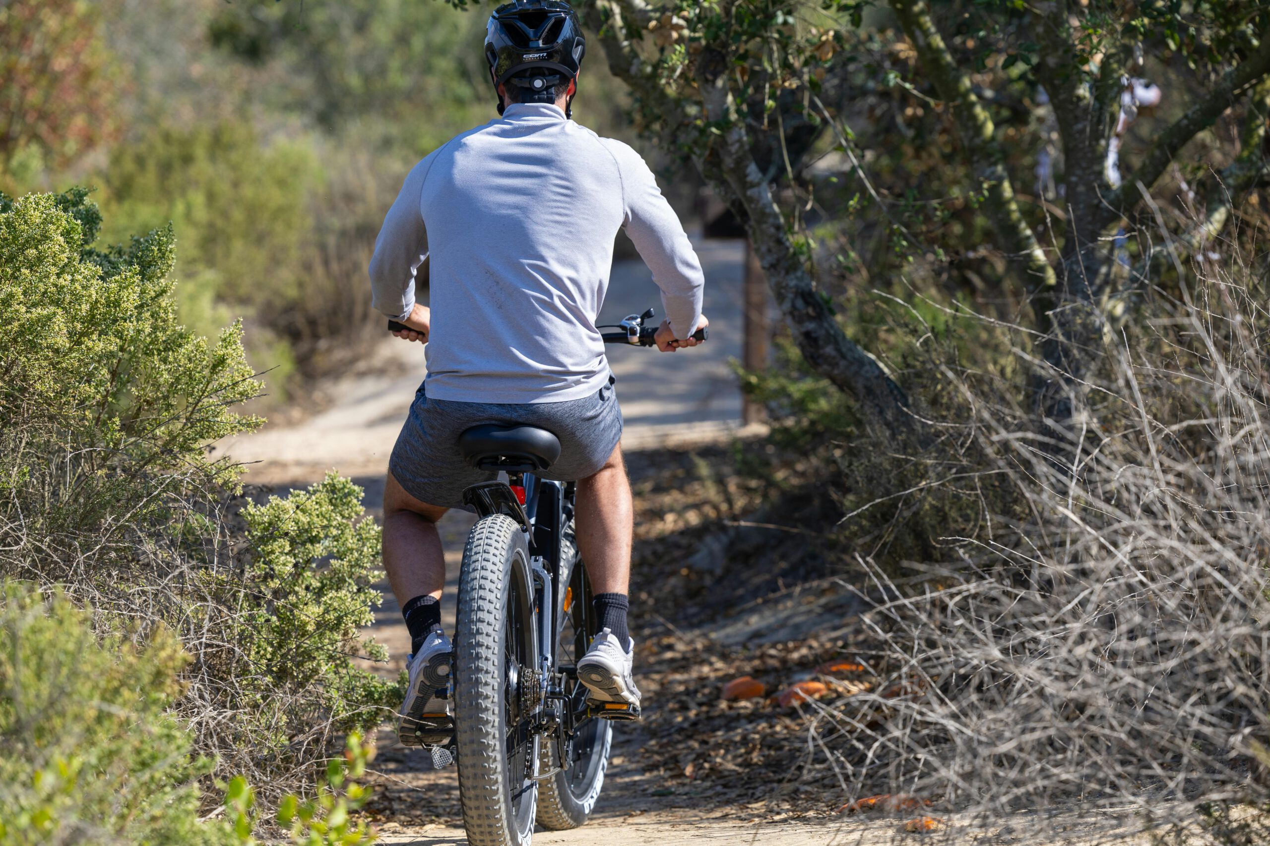
[[[526,846],[533,836],[533,633],[525,533],[505,515],[483,517],[464,549],[455,633],[458,794],[471,846]]]

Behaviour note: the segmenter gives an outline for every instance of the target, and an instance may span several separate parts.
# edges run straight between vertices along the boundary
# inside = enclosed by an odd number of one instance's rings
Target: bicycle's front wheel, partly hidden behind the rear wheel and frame
[[[573,547],[573,525],[565,529],[565,543],[561,544],[563,562],[573,562],[568,576],[569,590],[561,597],[561,608],[556,619],[561,621],[556,633],[556,654],[560,663],[577,666],[578,658],[587,653],[591,638],[597,628],[591,608],[591,585],[585,569],[577,559]],[[565,680],[565,695],[575,712],[584,706],[587,689],[577,679]],[[563,731],[563,729],[561,729]],[[559,747],[554,737],[542,738],[540,750],[542,772],[560,769],[552,776],[538,783],[538,824],[550,831],[577,828],[587,822],[599,791],[605,785],[605,771],[608,769],[608,750],[612,745],[612,723],[606,719],[588,719],[578,727],[572,742],[566,745],[568,767],[560,767]]]

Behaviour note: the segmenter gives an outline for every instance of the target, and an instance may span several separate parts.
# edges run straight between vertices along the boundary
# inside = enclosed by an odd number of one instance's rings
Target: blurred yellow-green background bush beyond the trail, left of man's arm
[[[391,203],[361,152],[326,162],[311,138],[267,142],[249,126],[163,127],[114,148],[102,174],[108,236],[171,222],[183,233],[182,320],[208,330],[225,315],[253,327],[249,354],[286,396],[364,340],[370,298],[351,284]]]

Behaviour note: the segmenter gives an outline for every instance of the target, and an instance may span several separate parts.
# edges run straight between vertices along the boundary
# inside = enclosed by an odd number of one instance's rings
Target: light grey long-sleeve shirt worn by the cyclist
[[[373,304],[403,318],[428,279],[431,398],[578,400],[608,379],[596,318],[624,227],[687,337],[701,263],[644,160],[554,105],[511,105],[406,176],[375,242]]]

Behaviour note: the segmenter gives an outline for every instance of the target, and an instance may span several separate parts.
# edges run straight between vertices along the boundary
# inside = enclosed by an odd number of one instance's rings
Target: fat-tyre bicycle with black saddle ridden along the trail
[[[602,332],[606,344],[654,346],[649,308]],[[389,329],[406,329],[389,321]],[[707,330],[693,337],[706,340]],[[536,473],[560,457],[555,435],[485,424],[458,439],[464,459],[507,473],[464,491],[478,519],[458,580],[453,717],[422,714],[403,743],[431,746],[433,766],[458,762],[471,846],[528,846],[587,822],[605,781],[615,720],[639,706],[591,703],[577,662],[598,633],[573,531],[575,486]]]

